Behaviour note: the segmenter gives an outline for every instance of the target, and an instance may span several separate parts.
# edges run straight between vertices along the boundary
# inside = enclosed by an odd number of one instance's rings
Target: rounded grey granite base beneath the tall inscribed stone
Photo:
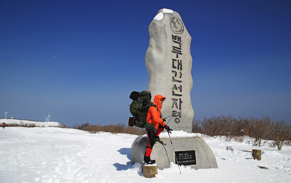
[[[187,134],[186,132],[185,134],[185,137],[172,135],[173,146],[170,138],[166,136],[167,133],[160,135],[160,140],[154,144],[150,156],[151,160],[156,160],[157,168],[160,170],[169,168],[171,162],[191,166],[194,169],[218,168],[215,156],[205,141],[193,134]],[[134,140],[131,146],[131,164],[136,162],[143,164],[147,143],[147,135],[140,135]],[[175,154],[178,162],[175,159]]]

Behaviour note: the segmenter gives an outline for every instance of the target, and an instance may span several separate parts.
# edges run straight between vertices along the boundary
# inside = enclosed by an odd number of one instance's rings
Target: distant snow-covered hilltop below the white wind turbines
[[[50,121],[50,122],[41,122],[41,121],[29,121],[29,120],[23,120],[23,119],[5,119],[5,118],[2,118],[0,119],[0,123],[6,123],[6,124],[13,124],[13,123],[16,123],[16,124],[35,124],[37,127],[65,127],[65,125],[63,123],[60,123],[60,122],[54,122],[54,121]],[[1,125],[2,126],[2,125]]]

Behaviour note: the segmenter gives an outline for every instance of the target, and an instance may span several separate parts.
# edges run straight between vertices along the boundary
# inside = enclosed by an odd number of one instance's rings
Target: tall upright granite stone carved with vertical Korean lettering
[[[193,85],[191,36],[180,15],[168,9],[158,11],[148,31],[150,43],[145,54],[149,73],[147,91],[152,96],[160,94],[166,97],[161,112],[163,118],[172,114],[171,120],[167,119],[168,126],[191,133],[194,116],[190,98]]]

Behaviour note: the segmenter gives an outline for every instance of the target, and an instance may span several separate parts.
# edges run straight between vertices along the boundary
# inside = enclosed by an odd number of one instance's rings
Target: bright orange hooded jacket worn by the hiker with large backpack
[[[159,128],[159,124],[161,124],[163,127],[166,125],[166,123],[163,122],[163,119],[161,119],[162,104],[159,103],[161,101],[161,98],[164,98],[164,97],[162,95],[156,95],[154,97],[153,105],[156,105],[159,110],[157,110],[157,108],[155,106],[151,106],[149,108],[149,111],[148,111],[148,114],[146,117],[146,121],[148,121],[148,123],[154,124],[156,129]],[[164,99],[166,99],[166,98],[164,98]],[[152,118],[150,119],[150,117],[152,117]]]

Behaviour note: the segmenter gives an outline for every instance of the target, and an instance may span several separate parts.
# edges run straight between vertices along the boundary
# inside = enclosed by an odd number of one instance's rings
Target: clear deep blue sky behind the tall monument
[[[0,118],[127,123],[129,94],[149,81],[148,26],[163,8],[192,37],[196,119],[291,120],[291,2],[266,0],[1,0]]]

